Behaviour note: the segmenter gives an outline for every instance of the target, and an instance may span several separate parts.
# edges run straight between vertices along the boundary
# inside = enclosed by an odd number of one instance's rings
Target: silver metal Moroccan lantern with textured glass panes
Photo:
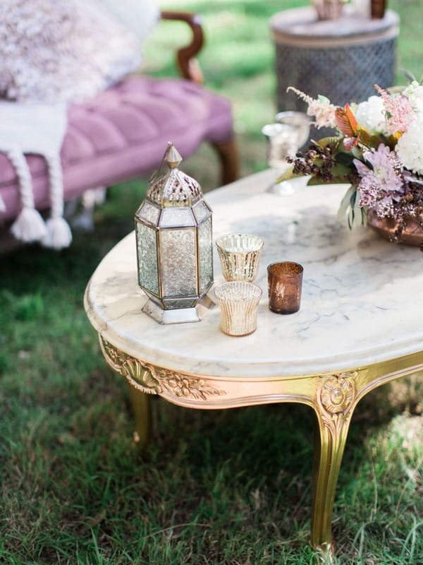
[[[200,321],[213,302],[212,209],[202,189],[180,171],[169,143],[168,172],[152,179],[135,214],[138,283],[149,300],[142,311],[159,323]]]

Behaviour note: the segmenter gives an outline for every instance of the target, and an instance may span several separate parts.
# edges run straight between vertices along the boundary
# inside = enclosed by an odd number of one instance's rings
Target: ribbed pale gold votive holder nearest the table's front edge
[[[220,309],[220,328],[227,335],[240,337],[257,329],[257,307],[262,289],[244,280],[222,283],[214,289]]]

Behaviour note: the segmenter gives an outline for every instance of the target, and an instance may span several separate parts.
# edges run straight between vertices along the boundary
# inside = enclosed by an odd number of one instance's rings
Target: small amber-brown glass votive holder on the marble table
[[[283,261],[267,267],[269,308],[276,314],[293,314],[300,309],[303,268]]]

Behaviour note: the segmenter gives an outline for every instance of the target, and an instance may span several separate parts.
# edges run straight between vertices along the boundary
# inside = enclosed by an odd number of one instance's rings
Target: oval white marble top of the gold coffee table
[[[104,257],[87,286],[85,309],[99,334],[145,362],[205,376],[324,374],[421,352],[419,249],[387,242],[369,227],[350,231],[340,224],[336,212],[347,185],[305,186],[297,179],[295,194],[278,196],[266,192],[273,178],[267,170],[205,195],[214,240],[228,232],[264,239],[255,333],[221,333],[217,306],[201,322],[167,326],[142,313],[147,297],[137,285],[132,232]],[[280,260],[304,267],[300,311],[287,316],[268,308],[266,266]],[[215,246],[214,280],[223,282]]]

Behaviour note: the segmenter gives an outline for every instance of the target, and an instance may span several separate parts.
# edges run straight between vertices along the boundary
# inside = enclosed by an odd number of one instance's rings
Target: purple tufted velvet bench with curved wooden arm
[[[168,141],[188,157],[202,141],[212,143],[221,162],[222,184],[237,176],[231,105],[204,88],[193,55],[202,47],[200,21],[190,13],[162,12],[164,19],[190,25],[192,43],[178,51],[185,78],[125,78],[84,105],[68,107],[68,129],[61,149],[64,200],[87,189],[146,176],[158,167]],[[38,155],[25,156],[30,167],[35,208],[49,207],[47,164]],[[0,227],[21,209],[16,171],[0,153]],[[3,230],[5,232],[5,230]]]

